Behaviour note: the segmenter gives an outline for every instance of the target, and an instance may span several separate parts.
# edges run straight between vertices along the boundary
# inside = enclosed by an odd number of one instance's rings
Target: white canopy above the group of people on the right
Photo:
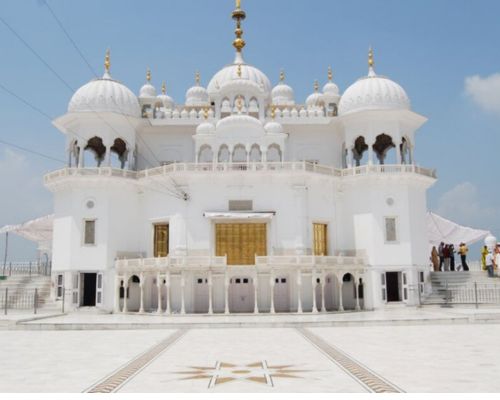
[[[427,235],[431,246],[439,246],[441,242],[453,245],[464,242],[470,245],[483,240],[489,234],[489,231],[458,225],[430,211],[427,212]]]

